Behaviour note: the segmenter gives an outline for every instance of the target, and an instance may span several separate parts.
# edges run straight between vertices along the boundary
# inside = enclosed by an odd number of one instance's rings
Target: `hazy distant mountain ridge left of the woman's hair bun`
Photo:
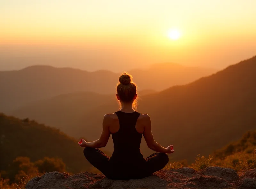
[[[9,112],[29,102],[60,94],[115,91],[118,74],[86,72],[72,68],[31,66],[19,71],[0,72],[0,111]]]

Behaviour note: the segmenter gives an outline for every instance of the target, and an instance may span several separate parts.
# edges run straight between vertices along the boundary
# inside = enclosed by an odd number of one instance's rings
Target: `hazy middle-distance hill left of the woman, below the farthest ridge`
[[[138,91],[139,96],[156,93],[154,90]],[[22,106],[12,112],[12,115],[21,119],[29,117],[39,123],[54,125],[68,135],[76,136],[72,127],[77,120],[84,117],[95,107],[108,103],[115,103],[118,108],[115,94],[98,94],[92,92],[77,92],[62,94],[50,99],[39,100]]]

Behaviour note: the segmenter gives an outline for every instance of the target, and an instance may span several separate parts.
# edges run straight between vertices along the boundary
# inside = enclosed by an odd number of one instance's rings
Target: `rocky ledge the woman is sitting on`
[[[75,175],[57,171],[32,178],[26,188],[255,188],[256,169],[239,176],[233,169],[207,167],[195,171],[191,168],[160,170],[152,176],[138,180],[111,180],[104,175],[83,172]]]

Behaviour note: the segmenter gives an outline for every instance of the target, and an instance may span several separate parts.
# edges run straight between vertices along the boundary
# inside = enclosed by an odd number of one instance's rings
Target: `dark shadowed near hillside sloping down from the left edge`
[[[27,156],[31,161],[58,157],[66,164],[67,171],[73,173],[91,167],[77,141],[58,129],[37,124],[35,121],[7,117],[4,114],[0,114],[0,125],[0,170],[8,170],[18,156]]]

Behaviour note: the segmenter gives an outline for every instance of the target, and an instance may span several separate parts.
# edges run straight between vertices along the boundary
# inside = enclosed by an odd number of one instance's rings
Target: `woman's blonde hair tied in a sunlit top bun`
[[[119,83],[116,87],[117,94],[121,101],[123,102],[131,102],[137,94],[137,86],[132,81],[132,75],[128,74],[127,72],[123,73],[119,77]],[[138,103],[136,100],[133,101],[133,108],[137,110]]]

